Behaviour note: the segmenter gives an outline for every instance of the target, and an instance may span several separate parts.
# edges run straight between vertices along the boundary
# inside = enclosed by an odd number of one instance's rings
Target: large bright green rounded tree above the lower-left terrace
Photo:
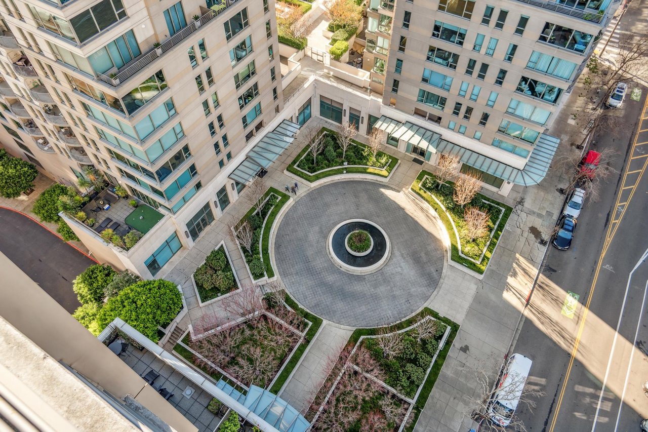
[[[182,294],[167,280],[143,280],[109,298],[99,311],[97,325],[106,328],[121,318],[151,341],[157,342],[157,326],[167,326],[182,309]]]

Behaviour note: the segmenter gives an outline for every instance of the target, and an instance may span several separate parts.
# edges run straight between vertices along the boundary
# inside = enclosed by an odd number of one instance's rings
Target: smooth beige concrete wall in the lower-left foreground
[[[196,431],[189,420],[3,254],[0,272],[0,315],[12,326],[54,359],[71,366],[113,396],[122,398],[130,394],[138,399],[141,395],[140,402],[174,429]]]

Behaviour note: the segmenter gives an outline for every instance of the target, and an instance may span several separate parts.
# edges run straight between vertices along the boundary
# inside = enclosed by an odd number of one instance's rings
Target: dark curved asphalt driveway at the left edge
[[[0,208],[0,252],[69,313],[80,306],[72,280],[95,261],[28,217],[4,208]]]

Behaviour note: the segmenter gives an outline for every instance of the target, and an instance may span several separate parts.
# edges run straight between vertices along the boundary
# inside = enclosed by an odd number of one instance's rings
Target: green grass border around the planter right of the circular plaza
[[[448,232],[448,237],[450,237],[450,243],[451,243],[451,258],[452,261],[455,261],[461,265],[464,265],[465,267],[469,268],[470,270],[474,270],[475,272],[478,272],[479,274],[483,274],[483,272],[486,270],[486,267],[491,260],[492,252],[495,250],[495,246],[497,245],[498,240],[500,239],[500,235],[502,235],[502,232],[504,230],[504,226],[506,226],[506,222],[509,219],[509,216],[511,216],[511,212],[513,211],[512,208],[509,206],[502,204],[501,202],[497,202],[495,200],[492,200],[491,198],[485,197],[484,195],[481,195],[480,193],[477,194],[477,197],[475,198],[476,200],[481,200],[485,199],[488,201],[493,202],[494,204],[497,204],[498,206],[502,207],[504,209],[504,213],[502,215],[502,219],[500,219],[500,223],[498,226],[496,226],[495,232],[492,235],[492,239],[489,242],[488,247],[486,248],[486,253],[483,256],[483,259],[481,259],[480,263],[475,263],[474,261],[471,261],[470,259],[463,258],[463,256],[459,255],[459,246],[457,245],[457,237],[454,234],[454,228],[452,227],[452,223],[450,223],[450,219],[448,219],[448,214],[439,206],[439,204],[430,196],[430,193],[435,193],[437,189],[432,188],[430,191],[427,191],[423,189],[420,184],[421,180],[425,176],[430,176],[430,178],[436,178],[434,174],[428,172],[428,171],[421,171],[419,173],[419,176],[417,176],[416,180],[414,180],[413,184],[411,185],[411,190],[414,191],[419,197],[423,198],[425,202],[430,204],[434,211],[439,215],[441,218],[441,221],[443,221],[443,224]],[[449,185],[452,185],[452,182],[448,182]],[[439,193],[439,195],[442,195]],[[436,193],[435,193],[436,196]],[[445,197],[440,197],[439,201],[443,202],[445,200]],[[457,218],[457,212],[452,212],[448,211],[450,215],[454,218]],[[498,215],[499,217],[499,215]],[[463,221],[459,221],[457,219],[454,220],[455,224],[463,224]],[[490,232],[489,232],[490,235]],[[459,237],[461,238],[461,237]],[[464,252],[465,253],[465,252]],[[481,253],[481,252],[480,252]]]

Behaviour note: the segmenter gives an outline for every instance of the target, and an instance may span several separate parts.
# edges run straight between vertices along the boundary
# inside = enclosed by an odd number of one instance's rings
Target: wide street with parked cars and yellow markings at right
[[[533,413],[518,412],[529,431],[638,431],[648,416],[641,390],[648,379],[648,264],[632,272],[648,247],[642,90],[641,102],[624,102],[627,127],[594,138],[592,149],[618,151],[612,164],[619,175],[602,184],[598,202],[586,202],[572,248],[550,246],[525,313],[513,351],[533,360],[528,385],[546,393]],[[573,310],[568,292],[579,296]]]

